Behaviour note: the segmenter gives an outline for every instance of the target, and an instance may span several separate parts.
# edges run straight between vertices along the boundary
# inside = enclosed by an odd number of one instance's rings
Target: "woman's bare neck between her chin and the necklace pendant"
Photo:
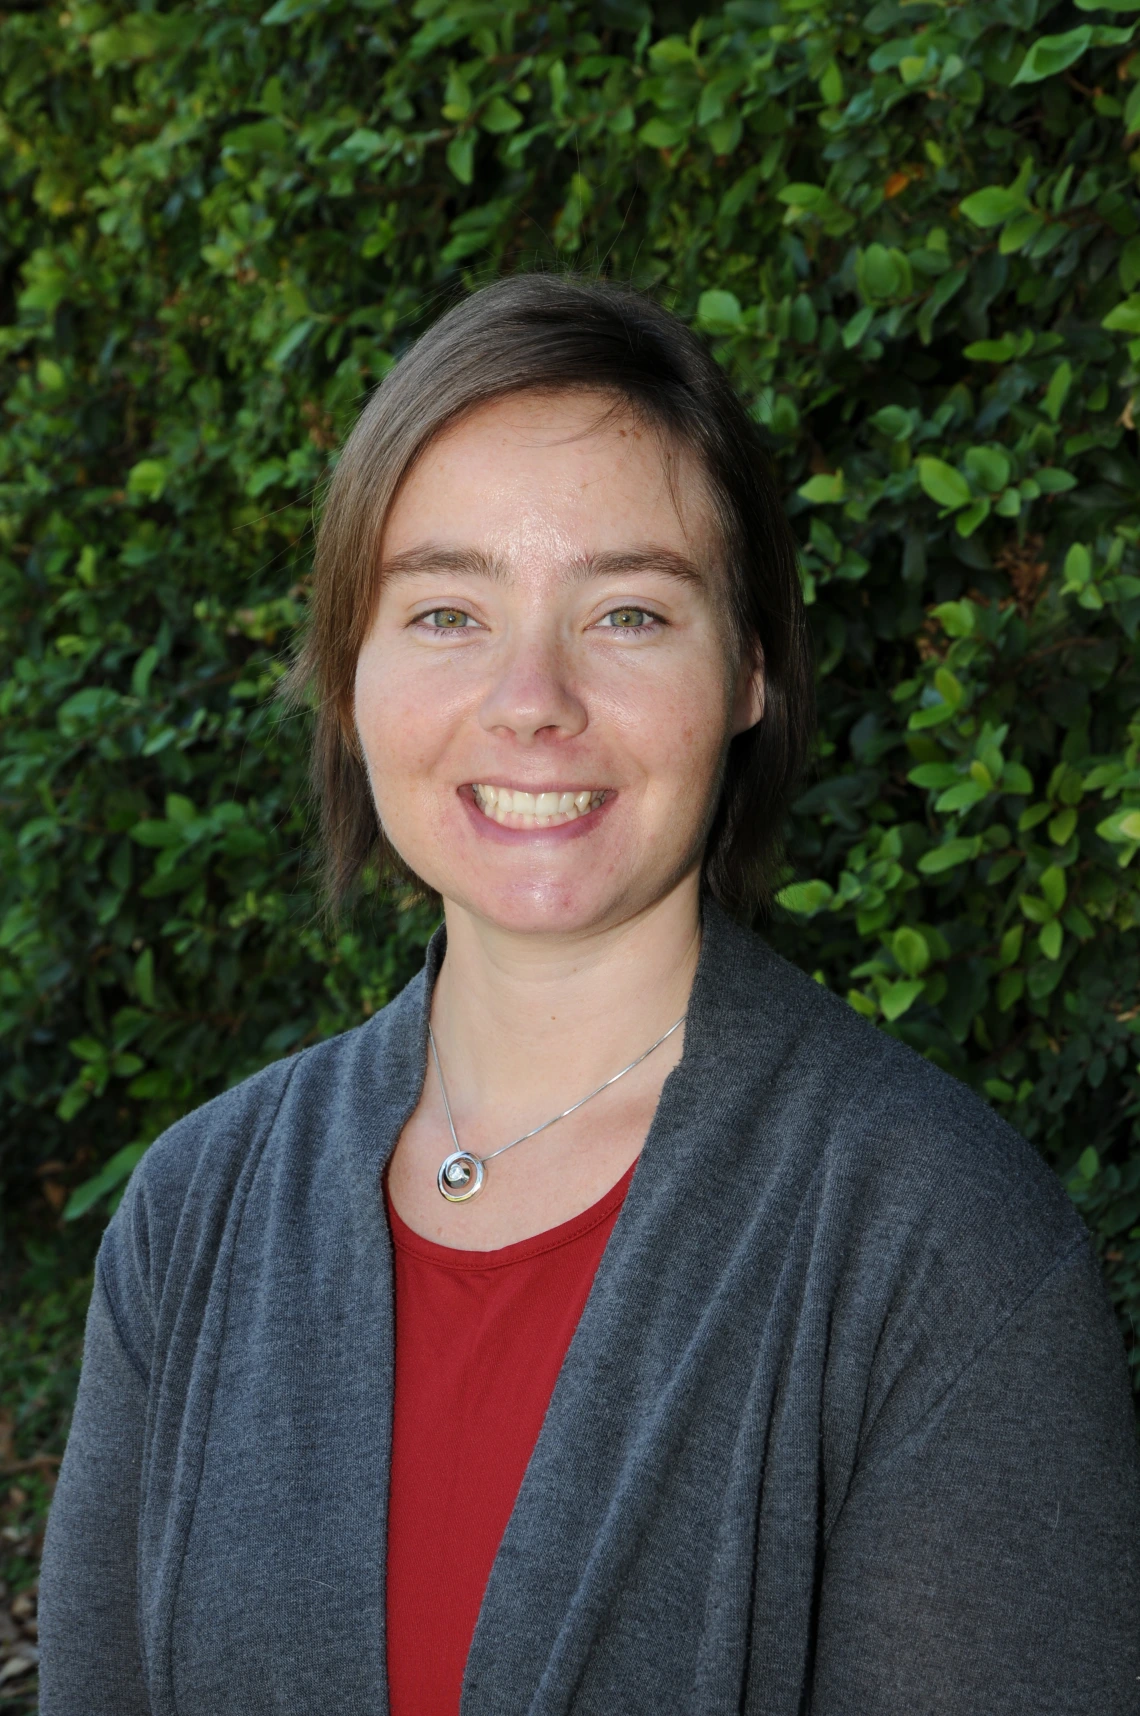
[[[700,947],[699,875],[604,930],[503,932],[446,904],[448,947],[431,1021],[445,1064],[477,1102],[543,1105],[616,1072],[680,1018]],[[680,1033],[678,1033],[680,1038]]]

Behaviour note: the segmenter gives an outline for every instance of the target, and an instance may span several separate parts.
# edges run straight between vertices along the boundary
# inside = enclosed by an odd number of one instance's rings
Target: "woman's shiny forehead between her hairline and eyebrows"
[[[383,559],[421,542],[597,554],[654,541],[707,561],[697,458],[620,398],[524,393],[469,410],[419,455],[388,511]]]

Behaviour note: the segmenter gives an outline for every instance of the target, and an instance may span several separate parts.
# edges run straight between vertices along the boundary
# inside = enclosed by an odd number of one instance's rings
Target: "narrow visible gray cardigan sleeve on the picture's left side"
[[[101,1277],[39,1577],[41,1716],[149,1716],[137,1526],[146,1383]]]

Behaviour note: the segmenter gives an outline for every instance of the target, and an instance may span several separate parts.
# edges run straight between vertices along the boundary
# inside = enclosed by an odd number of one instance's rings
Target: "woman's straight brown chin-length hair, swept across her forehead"
[[[755,427],[682,321],[622,287],[515,275],[450,309],[364,407],[328,487],[309,628],[287,695],[316,697],[312,784],[324,885],[340,906],[369,863],[419,884],[378,825],[354,722],[361,645],[376,606],[379,541],[400,482],[464,412],[508,393],[618,396],[706,472],[742,649],[764,652],[764,717],[728,748],[704,880],[733,911],[767,897],[783,819],[814,731],[810,647],[795,541]]]

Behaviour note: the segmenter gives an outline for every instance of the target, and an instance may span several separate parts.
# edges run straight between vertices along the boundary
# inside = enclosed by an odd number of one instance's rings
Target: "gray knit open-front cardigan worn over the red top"
[[[438,959],[137,1169],[48,1527],[43,1716],[385,1716],[379,1177]],[[1052,1174],[709,908],[464,1716],[1123,1716],[1138,1548],[1121,1342]]]

